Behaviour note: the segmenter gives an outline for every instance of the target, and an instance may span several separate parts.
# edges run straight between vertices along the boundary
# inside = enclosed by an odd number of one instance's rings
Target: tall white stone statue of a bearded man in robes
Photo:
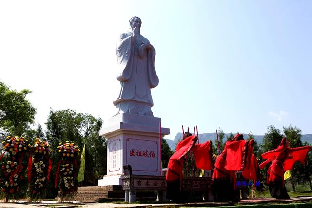
[[[122,33],[117,41],[116,55],[120,74],[121,90],[114,101],[119,112],[153,116],[151,88],[158,85],[155,72],[155,49],[150,41],[140,34],[141,19],[129,20],[131,31]]]

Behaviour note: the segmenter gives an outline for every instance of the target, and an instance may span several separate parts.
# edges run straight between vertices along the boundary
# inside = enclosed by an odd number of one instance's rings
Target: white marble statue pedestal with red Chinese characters
[[[98,180],[98,186],[122,185],[122,166],[127,164],[132,174],[161,175],[160,122],[160,118],[131,113],[109,119],[102,132],[107,138],[107,175]],[[161,128],[161,138],[169,133],[169,128]]]

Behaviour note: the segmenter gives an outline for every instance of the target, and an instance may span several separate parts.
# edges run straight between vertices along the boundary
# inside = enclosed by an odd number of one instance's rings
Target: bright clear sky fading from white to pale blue
[[[311,0],[2,0],[0,80],[27,98],[44,125],[50,108],[117,113],[115,46],[128,20],[156,49],[154,116],[199,133],[268,125],[312,133]]]

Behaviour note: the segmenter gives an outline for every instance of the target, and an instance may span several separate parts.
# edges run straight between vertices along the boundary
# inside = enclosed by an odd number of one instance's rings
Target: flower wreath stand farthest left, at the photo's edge
[[[1,198],[18,199],[21,182],[23,180],[21,171],[24,154],[30,150],[31,145],[24,137],[8,136],[2,141],[0,160],[8,153],[8,160],[1,165],[4,177],[0,180]]]

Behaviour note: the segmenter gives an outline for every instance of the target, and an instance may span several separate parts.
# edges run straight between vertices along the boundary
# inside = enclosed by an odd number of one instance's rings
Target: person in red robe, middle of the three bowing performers
[[[238,201],[236,191],[236,172],[242,171],[245,179],[259,177],[257,160],[253,154],[254,140],[244,140],[242,134],[237,134],[227,141],[221,155],[215,162],[212,175],[214,180],[214,201]]]

